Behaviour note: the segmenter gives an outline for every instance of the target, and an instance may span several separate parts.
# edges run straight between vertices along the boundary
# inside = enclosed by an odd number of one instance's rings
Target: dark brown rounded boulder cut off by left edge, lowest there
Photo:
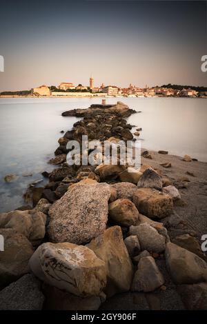
[[[4,251],[0,252],[0,287],[29,272],[28,262],[34,253],[32,244],[26,236],[12,228],[1,228]]]

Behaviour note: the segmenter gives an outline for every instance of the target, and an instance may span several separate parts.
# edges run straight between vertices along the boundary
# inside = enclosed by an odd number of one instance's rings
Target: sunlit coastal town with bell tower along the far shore
[[[120,88],[117,85],[95,86],[91,76],[88,85],[72,82],[61,82],[59,85],[40,85],[31,90],[1,92],[0,97],[191,97],[207,98],[207,90],[204,87],[190,87],[182,85],[162,85],[139,88],[130,85],[128,88]]]

